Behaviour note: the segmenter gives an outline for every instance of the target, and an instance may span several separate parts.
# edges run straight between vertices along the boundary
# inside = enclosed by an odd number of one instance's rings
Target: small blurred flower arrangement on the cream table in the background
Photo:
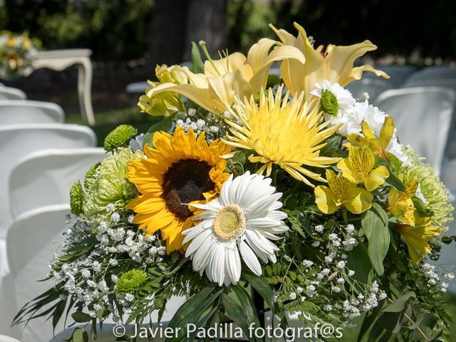
[[[28,33],[0,32],[0,78],[10,80],[21,75],[31,65],[31,58],[41,49],[38,38],[29,38]]]

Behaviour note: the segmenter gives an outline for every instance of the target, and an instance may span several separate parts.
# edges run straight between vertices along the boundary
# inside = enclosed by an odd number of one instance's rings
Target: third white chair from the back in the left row
[[[16,162],[37,150],[94,147],[95,143],[93,130],[82,125],[0,125],[0,239],[4,239],[11,223],[8,180]]]

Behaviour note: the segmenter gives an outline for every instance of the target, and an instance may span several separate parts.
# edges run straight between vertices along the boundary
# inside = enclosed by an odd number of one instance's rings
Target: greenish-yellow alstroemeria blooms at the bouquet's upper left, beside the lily
[[[187,74],[182,71],[180,66],[168,67],[165,64],[157,66],[157,68],[155,68],[155,75],[159,82],[147,81],[150,88],[148,88],[146,92],[160,86],[162,83],[182,84],[187,83],[188,81]],[[185,110],[185,105],[180,95],[172,91],[157,94],[153,98],[149,98],[147,95],[141,95],[138,107],[141,108],[143,112],[156,116],[168,116],[173,112]]]

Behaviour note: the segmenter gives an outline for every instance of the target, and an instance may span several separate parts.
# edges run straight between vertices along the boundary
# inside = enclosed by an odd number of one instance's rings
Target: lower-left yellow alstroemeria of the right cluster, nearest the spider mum
[[[373,195],[342,175],[326,170],[328,187],[318,185],[315,188],[315,202],[325,214],[332,214],[338,207],[346,207],[353,214],[361,214],[371,207]]]

